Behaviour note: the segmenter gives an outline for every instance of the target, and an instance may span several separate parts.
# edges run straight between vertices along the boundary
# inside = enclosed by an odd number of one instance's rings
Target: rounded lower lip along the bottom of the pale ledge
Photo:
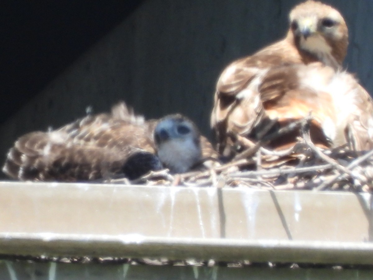
[[[10,237],[11,236],[11,237]],[[0,236],[1,253],[43,256],[250,260],[313,264],[373,264],[373,244],[279,240],[151,238],[65,234]]]

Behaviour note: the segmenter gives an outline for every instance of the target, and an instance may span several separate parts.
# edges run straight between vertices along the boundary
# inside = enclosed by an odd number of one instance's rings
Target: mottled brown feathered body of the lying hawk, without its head
[[[86,116],[55,131],[26,134],[9,150],[3,171],[19,180],[80,181],[160,167],[150,132],[154,121],[140,125],[131,111],[127,113],[126,117],[122,111],[121,118],[115,114]],[[126,167],[130,158],[136,170]]]

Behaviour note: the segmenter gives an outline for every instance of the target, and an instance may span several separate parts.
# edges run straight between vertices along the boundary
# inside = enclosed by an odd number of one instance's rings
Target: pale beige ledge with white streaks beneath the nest
[[[0,183],[0,253],[373,264],[368,193]]]

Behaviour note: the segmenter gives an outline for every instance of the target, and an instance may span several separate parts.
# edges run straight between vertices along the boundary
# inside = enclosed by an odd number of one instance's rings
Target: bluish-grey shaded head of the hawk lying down
[[[189,171],[202,158],[200,133],[194,123],[182,115],[166,116],[154,129],[157,155],[172,173]]]

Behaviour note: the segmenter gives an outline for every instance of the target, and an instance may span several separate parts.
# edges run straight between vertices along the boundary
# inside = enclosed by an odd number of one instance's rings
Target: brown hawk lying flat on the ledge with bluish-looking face
[[[21,136],[3,172],[36,181],[87,181],[114,174],[134,179],[162,168],[186,172],[214,154],[185,116],[145,121],[122,102],[111,114],[87,115],[57,130]]]

